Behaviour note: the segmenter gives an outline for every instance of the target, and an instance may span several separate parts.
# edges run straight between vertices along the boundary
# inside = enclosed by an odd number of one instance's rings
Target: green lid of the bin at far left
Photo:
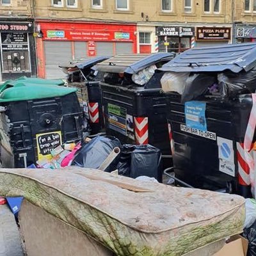
[[[20,83],[8,84],[0,90],[0,103],[20,100],[45,99],[61,97],[76,92],[75,88],[57,86],[54,84]]]

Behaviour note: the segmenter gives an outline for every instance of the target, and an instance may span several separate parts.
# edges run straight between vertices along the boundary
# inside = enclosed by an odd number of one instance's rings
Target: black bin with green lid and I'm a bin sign
[[[1,92],[0,112],[1,163],[6,168],[46,160],[52,148],[83,136],[74,88],[16,83]]]

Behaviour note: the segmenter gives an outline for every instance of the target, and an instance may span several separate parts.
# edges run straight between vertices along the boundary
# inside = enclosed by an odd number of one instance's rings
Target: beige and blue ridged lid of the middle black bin
[[[120,54],[93,66],[92,69],[110,73],[136,74],[161,60],[172,60],[174,52],[154,54]]]

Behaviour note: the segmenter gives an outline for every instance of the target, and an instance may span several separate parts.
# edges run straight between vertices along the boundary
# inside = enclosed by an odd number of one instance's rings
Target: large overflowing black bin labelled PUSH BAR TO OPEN
[[[176,182],[251,196],[244,138],[255,103],[256,44],[189,49],[160,69],[189,75],[182,95],[166,93]]]

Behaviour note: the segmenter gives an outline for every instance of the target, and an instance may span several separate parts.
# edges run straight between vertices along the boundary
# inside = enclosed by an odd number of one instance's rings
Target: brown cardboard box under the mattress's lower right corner
[[[213,256],[246,256],[248,250],[248,241],[242,236],[232,236],[227,244]]]

